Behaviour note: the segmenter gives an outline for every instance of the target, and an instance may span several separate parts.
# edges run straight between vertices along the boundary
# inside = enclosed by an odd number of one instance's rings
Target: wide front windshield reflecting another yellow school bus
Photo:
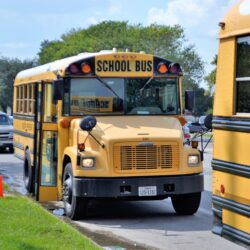
[[[178,78],[71,79],[70,115],[179,114]]]

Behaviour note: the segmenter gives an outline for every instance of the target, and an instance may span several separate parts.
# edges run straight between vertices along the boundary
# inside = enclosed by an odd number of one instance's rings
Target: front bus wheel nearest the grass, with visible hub
[[[86,216],[88,200],[73,195],[73,171],[68,163],[63,173],[63,203],[65,214],[72,220],[79,220]]]

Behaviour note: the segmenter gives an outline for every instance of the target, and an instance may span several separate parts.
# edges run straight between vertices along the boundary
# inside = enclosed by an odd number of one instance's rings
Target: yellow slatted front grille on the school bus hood
[[[160,170],[179,167],[177,143],[167,145],[115,145],[114,167],[117,171]]]

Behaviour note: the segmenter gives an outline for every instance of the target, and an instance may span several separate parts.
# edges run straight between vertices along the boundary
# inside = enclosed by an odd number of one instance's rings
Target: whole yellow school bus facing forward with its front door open
[[[20,72],[15,154],[38,201],[63,200],[72,219],[91,199],[172,198],[197,211],[202,154],[184,145],[182,70],[145,53],[82,53]]]

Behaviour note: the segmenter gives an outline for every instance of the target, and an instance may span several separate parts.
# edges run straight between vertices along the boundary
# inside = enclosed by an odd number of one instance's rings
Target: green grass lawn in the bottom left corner
[[[77,230],[21,196],[0,198],[0,249],[97,250]]]

